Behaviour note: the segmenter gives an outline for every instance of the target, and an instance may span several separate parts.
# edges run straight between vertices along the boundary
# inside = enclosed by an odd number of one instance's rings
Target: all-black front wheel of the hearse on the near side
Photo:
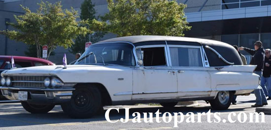
[[[101,99],[97,87],[79,87],[72,93],[70,101],[61,104],[61,107],[71,118],[90,118],[101,109]]]

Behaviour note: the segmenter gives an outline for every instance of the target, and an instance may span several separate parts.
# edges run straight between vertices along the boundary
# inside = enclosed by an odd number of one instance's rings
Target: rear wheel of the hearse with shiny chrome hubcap
[[[226,110],[230,107],[233,99],[233,93],[229,91],[218,92],[214,100],[209,101],[213,109]]]

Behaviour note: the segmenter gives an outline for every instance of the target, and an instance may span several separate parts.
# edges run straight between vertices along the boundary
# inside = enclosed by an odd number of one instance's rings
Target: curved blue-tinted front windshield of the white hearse
[[[74,63],[135,66],[133,46],[127,43],[93,44]]]

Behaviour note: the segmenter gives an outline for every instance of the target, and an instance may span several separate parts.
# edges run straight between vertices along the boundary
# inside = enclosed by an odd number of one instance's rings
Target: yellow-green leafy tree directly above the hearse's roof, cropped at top
[[[176,0],[107,0],[109,12],[102,20],[108,32],[118,36],[184,36],[190,30],[184,14],[185,4]]]

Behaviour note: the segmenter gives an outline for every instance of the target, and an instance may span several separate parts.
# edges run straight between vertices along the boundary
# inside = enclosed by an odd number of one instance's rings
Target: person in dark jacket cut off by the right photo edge
[[[271,100],[271,50],[266,49],[265,55],[266,56],[264,62],[263,77],[261,78],[261,86],[263,89],[267,88],[265,95],[268,96],[267,100]]]

